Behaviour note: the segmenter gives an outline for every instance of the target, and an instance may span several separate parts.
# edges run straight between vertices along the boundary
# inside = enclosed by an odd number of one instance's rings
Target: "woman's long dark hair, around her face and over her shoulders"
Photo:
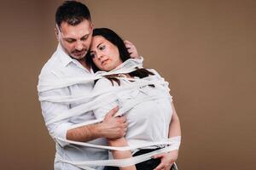
[[[127,50],[127,48],[125,47],[125,43],[123,41],[123,39],[121,37],[119,37],[119,35],[117,35],[117,33],[115,33],[114,31],[108,29],[108,28],[96,28],[93,30],[92,33],[92,37],[95,36],[102,36],[105,39],[108,40],[108,42],[113,43],[113,45],[115,45],[118,50],[119,50],[119,57],[120,59],[125,62],[125,60],[127,59],[131,59],[131,56]],[[96,67],[96,65],[94,64],[92,57],[90,56],[90,53],[86,54],[86,62],[88,65],[91,66],[93,71],[99,71],[99,69]],[[144,77],[148,77],[149,75],[154,75],[154,73],[144,69],[144,68],[137,68],[136,71],[131,71],[130,73],[128,73],[131,77],[140,77],[140,78],[144,78]],[[119,79],[115,78],[118,77],[118,75],[111,75],[108,76],[107,78],[113,83],[113,81],[119,82]]]

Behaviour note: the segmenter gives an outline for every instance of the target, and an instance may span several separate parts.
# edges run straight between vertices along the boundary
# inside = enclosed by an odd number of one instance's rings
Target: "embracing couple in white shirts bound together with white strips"
[[[137,48],[94,28],[76,1],[57,8],[58,48],[38,96],[55,140],[55,170],[175,170],[180,123],[168,82],[143,67]]]

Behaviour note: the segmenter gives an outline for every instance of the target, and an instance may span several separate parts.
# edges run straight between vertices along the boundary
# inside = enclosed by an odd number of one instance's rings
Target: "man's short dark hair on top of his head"
[[[90,20],[90,11],[83,3],[77,1],[65,1],[57,8],[55,22],[61,27],[62,22],[71,26],[77,26],[83,20]]]

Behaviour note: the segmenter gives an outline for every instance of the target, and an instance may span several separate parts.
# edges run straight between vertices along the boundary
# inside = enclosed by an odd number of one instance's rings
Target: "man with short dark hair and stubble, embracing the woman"
[[[58,82],[63,78],[90,77],[92,70],[85,62],[85,54],[88,53],[93,31],[89,9],[75,1],[64,2],[57,8],[55,14],[55,34],[59,41],[55,54],[44,65],[39,76],[38,86],[44,81]],[[125,42],[131,56],[137,56],[136,48],[131,42]],[[43,80],[44,77],[44,80]],[[45,92],[39,92],[39,97],[90,95],[94,82],[75,84],[67,88],[57,88]],[[80,105],[81,103],[61,104],[49,101],[41,101],[41,107],[45,122],[49,122],[61,113]],[[105,139],[117,139],[125,135],[127,122],[125,117],[114,117],[118,108],[109,111],[103,122],[70,128],[73,125],[85,121],[94,120],[93,114],[83,114],[72,120],[61,120],[47,125],[49,134],[55,139],[69,139],[74,141],[89,142],[91,144],[106,144]],[[96,150],[74,144],[56,143],[56,156],[69,161],[91,161],[108,159],[106,150]],[[78,170],[71,164],[56,161],[55,170]],[[96,167],[102,169],[102,167]]]

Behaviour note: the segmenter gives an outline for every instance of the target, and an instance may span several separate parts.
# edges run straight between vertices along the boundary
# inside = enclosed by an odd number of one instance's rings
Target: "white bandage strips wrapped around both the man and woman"
[[[104,76],[113,75],[113,74],[125,74],[129,73],[131,71],[135,71],[137,68],[142,67],[142,59],[128,59],[126,60],[122,65],[119,65],[118,68],[114,69],[113,71],[99,71],[95,75],[91,77],[83,77],[83,78],[63,78],[60,81],[54,81],[50,80],[49,82],[47,80],[44,80],[44,83],[40,83],[38,85],[38,92],[39,94],[44,91],[53,90],[57,88],[66,88],[68,86],[72,86],[74,84],[80,84],[80,83],[88,83],[92,82],[94,80],[103,78]],[[90,95],[86,96],[64,96],[64,97],[55,97],[55,96],[48,96],[48,97],[41,97],[39,96],[40,101],[49,101],[49,102],[55,102],[55,103],[61,103],[61,104],[73,104],[76,102],[82,102],[83,104],[73,107],[72,109],[67,110],[65,113],[61,114],[60,116],[56,116],[55,118],[49,120],[46,122],[46,125],[50,125],[51,123],[59,122],[61,120],[70,119],[73,116],[79,116],[81,114],[84,114],[84,112],[93,111],[99,107],[101,107],[101,102],[108,99],[113,101],[117,98],[114,96],[120,91],[129,90],[129,89],[141,89],[148,85],[154,85],[157,88],[162,88],[165,93],[157,94],[157,95],[148,95],[148,97],[145,97],[143,99],[137,99],[137,100],[131,100],[131,102],[126,102],[124,105],[121,105],[119,108],[119,111],[115,114],[115,116],[124,115],[127,113],[127,111],[131,110],[134,106],[140,104],[141,102],[152,100],[152,99],[160,99],[160,98],[170,98],[170,95],[167,95],[169,93],[168,88],[168,82],[165,82],[163,78],[161,78],[158,73],[154,70],[150,70],[154,72],[154,76],[145,77],[143,79],[138,78],[127,78],[127,77],[118,77],[120,80],[125,81],[132,81],[133,83],[130,83],[129,85],[125,86],[119,86],[119,87],[113,87],[108,89],[103,89],[100,92],[97,93],[91,93]],[[44,78],[44,77],[42,77]],[[111,101],[109,101],[111,102]],[[81,127],[88,124],[93,124],[96,122],[102,122],[102,119],[96,119],[93,121],[83,122],[76,124],[71,128],[74,127]],[[67,144],[78,144],[85,147],[91,147],[91,148],[97,148],[102,150],[137,150],[137,149],[143,149],[149,146],[155,146],[155,145],[164,145],[165,147],[160,150],[155,150],[153,152],[143,154],[141,156],[133,156],[131,158],[126,159],[113,159],[113,160],[95,160],[95,161],[68,161],[61,158],[61,156],[56,156],[56,160],[66,162],[69,164],[72,164],[76,167],[80,167],[85,170],[94,170],[94,168],[91,168],[91,166],[113,166],[113,167],[126,167],[135,165],[142,161],[149,160],[152,156],[160,154],[160,153],[166,153],[172,150],[178,150],[179,144],[180,144],[180,136],[162,140],[162,141],[155,141],[155,142],[147,142],[143,144],[137,144],[132,146],[125,146],[125,147],[112,147],[107,145],[97,145],[97,144],[89,144],[85,142],[77,142],[73,140],[67,140],[67,139],[60,139],[57,137],[54,137],[55,142],[57,143],[67,143]]]

